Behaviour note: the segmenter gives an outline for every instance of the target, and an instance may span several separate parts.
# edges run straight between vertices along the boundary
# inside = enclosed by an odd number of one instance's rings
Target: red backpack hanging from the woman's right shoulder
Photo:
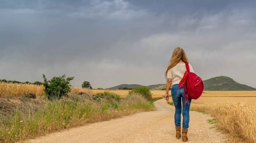
[[[204,90],[204,84],[199,76],[197,76],[195,73],[190,72],[187,62],[185,63],[185,65],[186,71],[179,83],[179,88],[184,85],[184,97],[186,105],[188,99],[198,99],[201,96]]]

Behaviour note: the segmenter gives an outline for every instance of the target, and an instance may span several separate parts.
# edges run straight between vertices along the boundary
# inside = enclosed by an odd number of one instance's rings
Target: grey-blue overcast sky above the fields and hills
[[[202,79],[256,87],[256,1],[0,0],[0,79],[165,83],[176,46]]]

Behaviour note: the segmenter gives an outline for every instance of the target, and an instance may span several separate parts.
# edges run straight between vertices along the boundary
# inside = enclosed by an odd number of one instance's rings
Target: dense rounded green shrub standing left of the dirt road
[[[53,77],[50,81],[46,79],[46,76],[43,74],[45,93],[48,100],[60,99],[63,96],[67,96],[70,92],[70,81],[74,77],[66,78],[65,75],[61,77]]]

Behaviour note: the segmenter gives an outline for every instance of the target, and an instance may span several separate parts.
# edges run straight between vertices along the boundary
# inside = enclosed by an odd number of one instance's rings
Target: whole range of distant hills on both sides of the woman
[[[219,76],[219,77],[211,78],[208,80],[204,80],[203,83],[204,83],[204,90],[209,90],[209,91],[256,90],[256,88],[247,86],[245,84],[240,84],[226,76]],[[134,88],[139,86],[143,86],[143,85],[121,84],[118,86],[111,87],[110,89],[119,89],[123,87]],[[165,84],[148,85],[147,87],[149,87],[151,90],[162,90],[165,88]]]

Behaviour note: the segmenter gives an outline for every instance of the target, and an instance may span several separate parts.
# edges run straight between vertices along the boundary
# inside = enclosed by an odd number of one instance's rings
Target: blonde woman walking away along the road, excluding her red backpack
[[[191,99],[188,99],[188,102],[185,105],[184,99],[184,85],[181,88],[178,88],[179,82],[181,81],[185,71],[186,66],[185,62],[188,62],[187,56],[184,50],[180,47],[176,47],[173,51],[172,58],[170,58],[168,67],[165,71],[166,81],[166,90],[165,90],[165,100],[169,100],[169,88],[172,85],[172,99],[175,106],[175,128],[176,128],[176,138],[180,139],[182,133],[182,141],[187,141],[187,131],[189,123],[189,107]],[[190,72],[194,73],[193,67],[189,65]],[[182,102],[182,103],[181,103]],[[181,112],[182,112],[182,132],[181,132]]]

